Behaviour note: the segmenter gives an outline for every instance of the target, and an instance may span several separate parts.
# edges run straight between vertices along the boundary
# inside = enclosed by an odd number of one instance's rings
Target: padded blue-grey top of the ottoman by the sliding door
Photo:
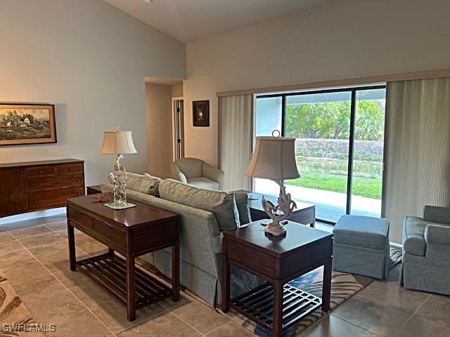
[[[370,216],[342,216],[333,229],[334,241],[383,250],[389,242],[389,221]]]

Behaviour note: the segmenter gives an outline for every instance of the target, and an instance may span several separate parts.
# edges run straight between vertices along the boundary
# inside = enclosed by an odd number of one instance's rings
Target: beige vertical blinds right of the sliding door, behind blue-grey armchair
[[[387,84],[383,213],[401,244],[405,216],[450,206],[450,78]]]

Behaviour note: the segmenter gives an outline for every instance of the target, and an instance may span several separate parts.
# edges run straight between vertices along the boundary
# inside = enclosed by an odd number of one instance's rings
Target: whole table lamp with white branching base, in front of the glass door
[[[290,198],[290,193],[286,194],[283,184],[283,179],[300,177],[295,163],[295,138],[257,137],[255,150],[245,174],[252,178],[273,180],[280,186],[276,206],[262,197],[262,208],[272,220],[264,227],[264,231],[274,235],[285,234],[286,229],[282,221],[288,220],[297,208],[295,201]]]

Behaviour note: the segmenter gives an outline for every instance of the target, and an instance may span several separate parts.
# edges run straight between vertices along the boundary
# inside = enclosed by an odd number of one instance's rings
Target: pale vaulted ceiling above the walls
[[[104,0],[161,32],[189,42],[278,18],[330,0]]]

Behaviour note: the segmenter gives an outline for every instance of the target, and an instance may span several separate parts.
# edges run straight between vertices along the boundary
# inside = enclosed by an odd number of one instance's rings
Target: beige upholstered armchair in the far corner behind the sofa
[[[220,190],[224,172],[197,158],[176,159],[172,178],[206,190]]]

